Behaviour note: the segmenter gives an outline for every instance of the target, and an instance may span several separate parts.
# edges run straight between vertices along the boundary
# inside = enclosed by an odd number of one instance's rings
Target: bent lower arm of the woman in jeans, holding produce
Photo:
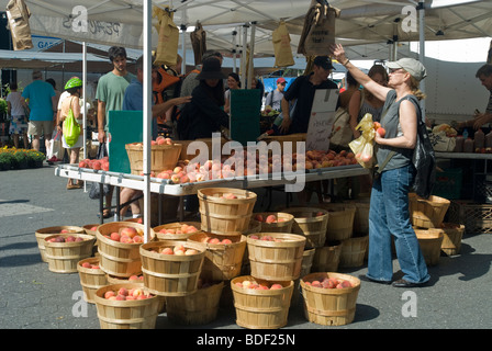
[[[417,143],[417,113],[415,105],[411,101],[404,100],[400,104],[399,113],[403,135],[387,139],[376,133],[374,141],[379,145],[413,149]]]

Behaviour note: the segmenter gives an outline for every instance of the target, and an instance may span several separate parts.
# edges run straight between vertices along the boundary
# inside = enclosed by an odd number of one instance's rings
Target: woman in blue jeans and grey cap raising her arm
[[[391,236],[403,278],[393,282],[396,287],[421,286],[429,280],[409,211],[409,192],[415,168],[412,156],[417,143],[417,118],[422,118],[418,100],[424,94],[418,83],[426,77],[425,67],[413,58],[388,63],[388,88],[370,79],[345,56],[342,45],[332,46],[335,58],[377,99],[384,101],[382,137],[376,133],[377,162],[382,165],[394,151],[378,179],[374,179],[369,210],[368,273],[362,280],[390,284],[393,275]]]

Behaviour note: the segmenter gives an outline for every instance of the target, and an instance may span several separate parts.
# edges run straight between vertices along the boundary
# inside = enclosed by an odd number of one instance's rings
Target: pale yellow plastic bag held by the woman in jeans
[[[357,162],[364,168],[372,168],[374,165],[373,148],[374,148],[374,124],[372,115],[366,113],[360,120],[356,129],[360,131],[360,136],[351,140],[348,146],[356,155]]]

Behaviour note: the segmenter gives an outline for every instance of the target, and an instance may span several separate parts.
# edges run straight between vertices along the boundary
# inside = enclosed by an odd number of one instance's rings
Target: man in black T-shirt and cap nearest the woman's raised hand
[[[308,132],[315,91],[317,89],[338,89],[336,83],[328,79],[332,69],[332,59],[328,56],[316,56],[313,63],[313,72],[297,78],[284,92],[281,102],[283,121],[280,132],[282,134]],[[289,102],[293,99],[297,99],[297,105],[290,115]]]

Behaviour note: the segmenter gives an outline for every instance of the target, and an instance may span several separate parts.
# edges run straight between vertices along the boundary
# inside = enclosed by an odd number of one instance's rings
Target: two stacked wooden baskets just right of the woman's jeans
[[[450,201],[444,197],[431,195],[427,200],[417,196],[414,193],[409,194],[410,214],[412,225],[415,228],[418,244],[427,265],[439,263],[440,250],[445,237],[444,218],[449,208]],[[462,228],[465,230],[465,228]],[[457,230],[458,236],[451,234],[456,248],[456,242],[461,241],[463,230]],[[449,230],[449,233],[454,233]],[[449,236],[448,236],[449,238]],[[446,246],[451,241],[447,240]]]

